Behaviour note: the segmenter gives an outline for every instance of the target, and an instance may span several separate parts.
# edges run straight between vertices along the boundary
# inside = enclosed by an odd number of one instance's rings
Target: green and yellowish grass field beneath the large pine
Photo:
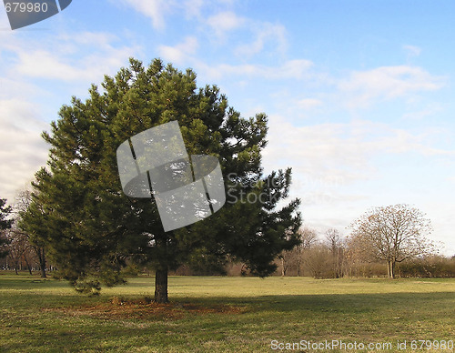
[[[412,340],[455,340],[455,278],[170,277],[169,305],[145,300],[153,283],[88,298],[65,281],[0,275],[0,351],[300,351],[301,340],[332,339],[389,351],[407,340],[411,351]]]

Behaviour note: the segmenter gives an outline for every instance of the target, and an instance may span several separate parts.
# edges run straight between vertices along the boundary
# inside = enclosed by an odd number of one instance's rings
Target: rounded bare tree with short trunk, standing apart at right
[[[349,227],[364,255],[387,262],[390,278],[398,262],[434,252],[430,219],[415,207],[374,207]]]

